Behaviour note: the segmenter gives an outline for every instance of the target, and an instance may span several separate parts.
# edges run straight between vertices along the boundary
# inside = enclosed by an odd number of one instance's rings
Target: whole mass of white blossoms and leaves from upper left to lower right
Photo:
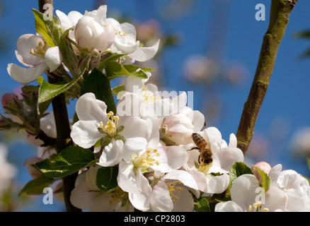
[[[226,143],[217,128],[205,128],[201,112],[188,107],[186,93],[167,95],[148,83],[152,69],[133,64],[153,58],[159,40],[142,47],[134,26],[106,18],[106,11],[56,11],[52,20],[34,11],[38,34],[18,39],[16,57],[29,68],[8,65],[10,76],[25,86],[20,98],[8,95],[4,109],[15,118],[2,117],[0,126],[25,129],[28,141],[40,146],[39,155],[25,162],[32,184],[50,186],[78,173],[70,201],[90,211],[310,209],[306,179],[280,165],[250,169],[234,133]],[[44,71],[59,82],[44,81]],[[111,89],[110,81],[120,76],[127,76],[125,83]],[[40,85],[28,85],[37,79]],[[54,114],[45,112],[59,94],[78,99],[70,145],[63,150]],[[258,188],[265,195],[260,201]],[[28,184],[23,192],[34,190]],[[298,209],[296,202],[302,203]]]

